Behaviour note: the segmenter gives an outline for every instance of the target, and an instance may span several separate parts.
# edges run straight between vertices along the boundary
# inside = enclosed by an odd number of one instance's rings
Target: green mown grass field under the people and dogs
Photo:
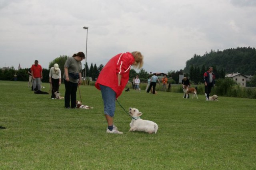
[[[49,84],[43,86],[48,92]],[[120,135],[106,133],[94,86],[80,87],[91,110],[64,109],[64,100],[35,95],[27,82],[0,81],[0,87],[0,126],[6,127],[0,129],[1,170],[256,169],[255,99],[123,92],[121,105],[139,109],[159,128],[156,134],[128,132],[131,118],[116,103]]]

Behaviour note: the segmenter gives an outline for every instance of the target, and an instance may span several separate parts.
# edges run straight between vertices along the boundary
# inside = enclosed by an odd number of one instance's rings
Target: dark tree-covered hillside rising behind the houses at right
[[[206,70],[208,66],[213,66],[218,70],[224,70],[225,73],[242,73],[244,75],[256,74],[256,49],[253,47],[237,47],[225,49],[223,51],[206,52],[203,56],[194,55],[193,58],[186,61],[184,73],[190,73],[191,67],[202,68]]]

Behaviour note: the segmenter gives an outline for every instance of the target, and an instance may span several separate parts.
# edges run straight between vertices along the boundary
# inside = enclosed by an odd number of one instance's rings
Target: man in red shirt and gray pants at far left
[[[41,65],[38,64],[38,60],[36,60],[35,64],[32,65],[31,74],[33,78],[33,89],[35,90],[37,88],[38,90],[41,90],[41,80],[43,78],[43,73]]]

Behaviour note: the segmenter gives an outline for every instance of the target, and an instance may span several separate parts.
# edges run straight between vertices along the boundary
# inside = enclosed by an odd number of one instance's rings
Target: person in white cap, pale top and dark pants
[[[51,89],[52,89],[52,99],[55,99],[55,92],[59,91],[59,87],[61,84],[61,71],[59,69],[59,65],[56,63],[54,64],[54,67],[50,68],[49,73],[49,82],[51,83]]]

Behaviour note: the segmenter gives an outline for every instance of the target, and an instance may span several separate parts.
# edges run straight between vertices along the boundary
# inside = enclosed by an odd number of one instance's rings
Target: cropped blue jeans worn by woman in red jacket
[[[114,117],[116,110],[116,92],[104,85],[100,85],[100,91],[104,103],[104,114]]]

